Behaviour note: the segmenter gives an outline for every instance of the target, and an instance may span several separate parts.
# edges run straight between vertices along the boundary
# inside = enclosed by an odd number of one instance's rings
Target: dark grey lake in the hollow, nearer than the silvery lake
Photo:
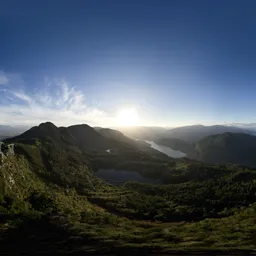
[[[99,169],[95,172],[95,176],[113,185],[122,185],[126,181],[138,181],[150,184],[160,183],[160,181],[157,179],[145,178],[138,172],[125,170]]]

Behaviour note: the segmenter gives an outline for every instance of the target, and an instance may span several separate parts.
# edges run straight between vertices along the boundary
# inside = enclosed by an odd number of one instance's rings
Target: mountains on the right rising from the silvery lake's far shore
[[[216,130],[225,131],[222,127],[218,127]],[[159,138],[155,142],[182,151],[187,154],[188,158],[201,162],[238,164],[256,168],[256,136],[237,128],[232,129],[232,131],[214,135],[208,135],[207,132],[202,134],[193,133],[193,136],[191,134],[180,136],[182,138],[196,137],[197,139],[200,137],[199,140],[192,142],[172,137]],[[235,133],[235,131],[239,131],[239,133]],[[174,134],[177,135],[176,131]],[[179,133],[179,135],[181,134]]]

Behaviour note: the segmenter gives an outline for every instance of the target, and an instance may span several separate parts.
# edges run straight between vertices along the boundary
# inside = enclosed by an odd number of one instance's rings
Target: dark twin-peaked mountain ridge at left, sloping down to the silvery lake
[[[48,169],[50,161],[60,162],[62,159],[68,165],[86,164],[93,169],[126,168],[150,173],[156,166],[160,170],[163,160],[173,162],[172,158],[148,145],[140,145],[118,131],[101,129],[100,133],[85,124],[57,127],[46,122],[4,142],[15,143],[16,151],[35,166]]]

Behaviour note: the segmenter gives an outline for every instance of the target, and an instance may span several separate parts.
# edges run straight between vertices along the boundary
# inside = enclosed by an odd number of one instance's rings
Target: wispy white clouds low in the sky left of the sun
[[[51,121],[58,126],[78,123],[114,125],[115,115],[88,105],[85,95],[66,81],[48,81],[34,93],[5,89],[0,99],[1,124],[38,125]],[[11,99],[11,100],[10,100]]]

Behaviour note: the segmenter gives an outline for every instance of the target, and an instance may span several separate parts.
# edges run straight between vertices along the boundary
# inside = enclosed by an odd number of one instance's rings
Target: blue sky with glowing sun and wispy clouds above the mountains
[[[0,124],[256,122],[255,0],[0,5]]]

